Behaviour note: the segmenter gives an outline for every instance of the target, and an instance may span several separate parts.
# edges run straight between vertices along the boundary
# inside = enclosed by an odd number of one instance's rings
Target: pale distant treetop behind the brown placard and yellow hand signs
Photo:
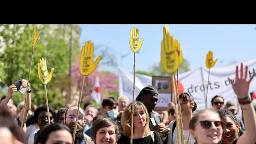
[[[187,61],[187,59],[183,59],[178,72],[183,73],[183,72],[187,72],[187,71],[189,71],[189,61]],[[164,72],[161,62],[154,64],[152,66],[152,72],[155,72],[159,76],[168,76],[169,75]]]

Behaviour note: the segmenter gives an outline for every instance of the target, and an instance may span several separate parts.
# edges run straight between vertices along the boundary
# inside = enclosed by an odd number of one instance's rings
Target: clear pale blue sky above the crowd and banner
[[[129,46],[132,27],[139,28],[139,39],[144,38],[139,53],[136,53],[136,70],[150,71],[153,64],[160,62],[160,42],[163,39],[163,24],[118,24],[80,25],[80,45],[91,40],[94,45],[105,45],[113,54],[118,67],[133,71],[133,53]],[[213,59],[218,58],[216,67],[232,61],[246,61],[256,57],[256,25],[169,25],[171,35],[183,47],[183,57],[189,61],[190,69],[205,67],[208,51]],[[95,53],[96,55],[97,53]],[[121,55],[127,57],[120,59]],[[95,59],[95,58],[94,58]],[[104,59],[104,58],[103,58]],[[117,72],[117,68],[100,67],[101,70]]]

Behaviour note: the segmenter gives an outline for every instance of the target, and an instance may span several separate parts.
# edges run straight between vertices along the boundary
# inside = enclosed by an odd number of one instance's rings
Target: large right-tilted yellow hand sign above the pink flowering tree
[[[93,50],[94,44],[91,43],[91,41],[86,42],[82,48],[80,56],[80,73],[83,76],[90,75],[102,59],[102,56],[99,56],[96,61],[93,61]]]

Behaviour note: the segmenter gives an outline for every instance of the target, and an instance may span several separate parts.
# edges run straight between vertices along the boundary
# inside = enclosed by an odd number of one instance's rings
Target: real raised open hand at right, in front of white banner
[[[240,73],[240,76],[239,76]],[[249,80],[247,80],[248,66],[245,66],[245,72],[243,70],[243,63],[241,63],[240,72],[238,66],[235,69],[235,82],[228,77],[229,82],[238,98],[246,98],[249,92],[249,85],[255,77],[255,73]]]

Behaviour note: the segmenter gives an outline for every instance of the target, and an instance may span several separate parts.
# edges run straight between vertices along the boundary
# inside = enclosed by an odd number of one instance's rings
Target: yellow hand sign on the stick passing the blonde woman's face
[[[130,48],[131,51],[136,53],[141,48],[141,45],[143,43],[144,39],[141,39],[141,42],[139,42],[139,29],[136,27],[133,27],[130,32]]]

